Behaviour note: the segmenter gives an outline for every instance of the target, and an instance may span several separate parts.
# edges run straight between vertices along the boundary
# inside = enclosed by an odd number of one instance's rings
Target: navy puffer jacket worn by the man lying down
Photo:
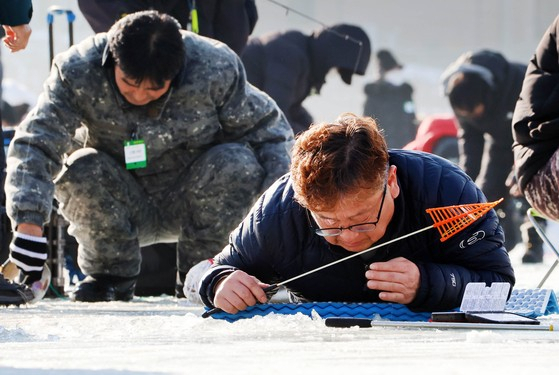
[[[456,165],[418,151],[391,150],[400,195],[386,234],[378,244],[433,224],[427,208],[484,202],[485,196]],[[330,245],[310,227],[309,216],[293,199],[289,175],[280,178],[233,231],[230,244],[204,275],[200,296],[212,306],[215,281],[241,269],[266,283],[277,283],[331,263],[350,253]],[[514,272],[503,246],[494,210],[445,242],[437,230],[410,236],[287,284],[298,297],[319,302],[382,302],[366,288],[365,270],[372,262],[405,257],[417,264],[421,285],[408,307],[417,311],[460,306],[470,282],[509,282]]]

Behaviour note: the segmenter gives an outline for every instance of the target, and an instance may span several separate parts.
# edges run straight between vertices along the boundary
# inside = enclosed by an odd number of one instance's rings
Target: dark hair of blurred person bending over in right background
[[[478,74],[458,73],[451,78],[448,99],[452,108],[468,112],[479,104],[486,104],[491,88]]]

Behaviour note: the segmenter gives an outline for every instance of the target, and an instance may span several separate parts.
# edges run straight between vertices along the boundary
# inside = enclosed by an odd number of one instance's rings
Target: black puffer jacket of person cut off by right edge
[[[528,64],[512,121],[515,172],[522,191],[559,147],[559,17]]]

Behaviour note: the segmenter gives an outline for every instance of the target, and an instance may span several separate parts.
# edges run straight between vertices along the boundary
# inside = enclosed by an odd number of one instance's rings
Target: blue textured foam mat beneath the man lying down
[[[343,303],[343,302],[306,302],[306,303],[269,303],[255,305],[237,314],[219,312],[211,315],[214,319],[234,322],[239,319],[265,316],[268,314],[294,315],[301,313],[312,316],[313,311],[321,318],[352,317],[382,318],[391,321],[426,322],[430,312],[413,312],[405,305],[396,303]],[[511,293],[505,311],[538,317],[559,313],[555,293],[550,289],[516,289]]]

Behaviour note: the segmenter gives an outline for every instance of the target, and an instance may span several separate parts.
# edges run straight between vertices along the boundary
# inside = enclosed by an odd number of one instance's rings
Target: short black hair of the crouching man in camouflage
[[[132,13],[109,30],[109,50],[127,77],[163,86],[180,72],[185,48],[180,24],[173,17],[148,10]]]

